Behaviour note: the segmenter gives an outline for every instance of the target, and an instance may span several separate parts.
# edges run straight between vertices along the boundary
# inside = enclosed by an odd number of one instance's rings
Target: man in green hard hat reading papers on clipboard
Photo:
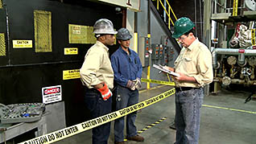
[[[204,85],[213,81],[212,55],[195,34],[195,24],[186,17],[175,22],[173,38],[183,46],[175,67],[166,67],[180,76],[175,80],[175,144],[198,144],[200,107]]]

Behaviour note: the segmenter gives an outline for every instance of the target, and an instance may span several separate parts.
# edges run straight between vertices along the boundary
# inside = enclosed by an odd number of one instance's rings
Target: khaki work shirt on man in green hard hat
[[[175,72],[192,76],[196,82],[176,81],[177,87],[203,87],[213,81],[213,59],[204,43],[196,39],[189,47],[183,47],[175,60]]]

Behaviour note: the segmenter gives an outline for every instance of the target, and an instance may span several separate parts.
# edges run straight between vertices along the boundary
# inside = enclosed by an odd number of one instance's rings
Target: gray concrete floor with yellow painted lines
[[[169,86],[161,86],[152,90],[143,90],[139,101],[155,97],[170,89]],[[256,100],[244,103],[250,93],[244,91],[226,91],[211,94],[204,97],[204,106],[201,109],[200,144],[254,144],[256,143]],[[217,106],[211,108],[210,106]],[[232,109],[226,109],[232,108]],[[250,113],[254,112],[254,113]],[[151,127],[140,134],[145,138],[144,142],[127,141],[126,144],[172,144],[175,142],[175,130],[169,125],[175,116],[174,96],[167,97],[163,101],[142,109],[138,113],[136,125],[142,130],[163,117],[166,120]],[[109,144],[114,144],[114,130],[109,137]],[[58,144],[91,143],[91,130],[64,139]]]

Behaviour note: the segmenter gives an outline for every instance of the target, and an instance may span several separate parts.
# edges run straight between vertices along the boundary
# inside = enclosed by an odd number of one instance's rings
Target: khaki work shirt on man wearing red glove
[[[109,88],[114,87],[114,72],[109,60],[109,48],[97,41],[89,48],[80,69],[81,81],[88,88],[105,82]]]

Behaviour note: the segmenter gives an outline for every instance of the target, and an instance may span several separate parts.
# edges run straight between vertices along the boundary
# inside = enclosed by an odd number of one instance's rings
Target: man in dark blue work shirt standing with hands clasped
[[[130,49],[132,36],[126,28],[118,30],[118,43],[120,47],[111,56],[114,70],[114,81],[117,87],[114,91],[116,97],[116,110],[126,108],[138,103],[138,88],[141,87],[142,64],[138,54]],[[134,124],[136,112],[126,116],[126,138],[128,140],[143,142],[144,138],[137,134]],[[114,121],[114,143],[124,144],[124,117]]]

